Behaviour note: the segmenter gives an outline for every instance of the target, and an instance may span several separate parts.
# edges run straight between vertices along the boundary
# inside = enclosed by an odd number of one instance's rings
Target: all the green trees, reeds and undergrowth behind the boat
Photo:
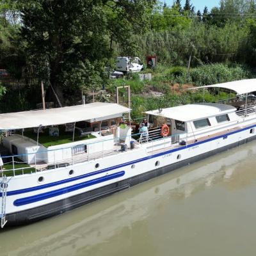
[[[220,6],[211,11],[205,7],[195,18],[191,17],[192,1],[186,1],[184,8],[180,0],[173,1],[173,6],[155,3],[2,0],[0,66],[16,79],[26,73],[38,81],[44,79],[47,100],[54,99],[49,98],[51,82],[65,104],[80,99],[81,88],[92,92],[102,84],[110,93],[123,85],[131,86],[132,95],[150,90],[164,93],[163,98],[133,96],[134,108],[138,107],[134,111],[202,101],[200,92],[170,95],[175,83],[203,85],[253,76],[246,65],[256,65],[254,0],[221,0]],[[152,81],[139,81],[138,74],[129,74],[127,80],[104,77],[104,67],[113,67],[114,57],[120,55],[141,60],[156,55],[157,67],[143,71],[152,73]],[[40,87],[5,89],[2,85],[0,97],[1,111],[31,109],[40,102]],[[216,95],[205,94],[205,100],[214,99]],[[99,95],[99,100],[111,99]]]

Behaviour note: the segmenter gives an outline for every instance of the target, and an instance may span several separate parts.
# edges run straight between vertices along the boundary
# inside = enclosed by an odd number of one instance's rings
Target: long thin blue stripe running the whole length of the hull
[[[152,158],[159,157],[159,156],[164,156],[165,154],[170,154],[172,152],[177,152],[177,151],[180,151],[180,150],[184,150],[185,148],[195,147],[196,145],[201,145],[201,144],[207,143],[209,141],[218,140],[220,138],[227,138],[227,136],[230,136],[232,134],[236,134],[236,133],[239,133],[239,132],[242,132],[242,131],[250,130],[250,129],[255,128],[255,127],[256,127],[256,125],[252,125],[250,127],[246,127],[246,128],[243,128],[243,129],[240,129],[240,130],[237,130],[237,131],[233,131],[233,132],[228,132],[226,134],[216,136],[214,138],[209,138],[209,139],[204,140],[204,141],[198,141],[196,143],[186,145],[184,147],[173,148],[172,150],[168,150],[168,151],[161,152],[161,153],[158,153],[158,154],[155,154],[155,155],[152,155],[152,156],[147,156],[147,157],[143,157],[143,158],[140,158],[140,159],[136,159],[134,161],[130,161],[130,162],[127,162],[127,163],[124,163],[124,164],[118,164],[116,166],[111,166],[109,168],[105,168],[105,169],[99,170],[97,172],[87,173],[87,174],[80,175],[80,176],[77,176],[77,177],[73,177],[73,178],[70,178],[70,179],[59,180],[59,181],[56,181],[56,182],[51,182],[51,183],[48,183],[48,184],[35,186],[35,187],[32,187],[32,188],[25,188],[25,189],[18,189],[18,190],[8,191],[7,196],[19,195],[21,193],[28,193],[28,192],[31,192],[31,191],[36,191],[36,190],[44,189],[44,188],[51,188],[53,186],[58,186],[60,184],[65,184],[67,182],[72,182],[74,180],[84,179],[86,177],[97,175],[99,173],[108,172],[108,171],[111,171],[111,170],[115,170],[117,168],[122,168],[122,167],[125,167],[125,166],[129,166],[131,164],[140,163],[140,162],[148,160],[148,159],[152,159]],[[0,193],[0,196],[2,196],[2,193]]]

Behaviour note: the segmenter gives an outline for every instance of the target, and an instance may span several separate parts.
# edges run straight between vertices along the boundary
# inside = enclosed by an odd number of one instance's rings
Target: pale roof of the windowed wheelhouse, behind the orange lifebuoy
[[[164,118],[179,120],[182,122],[189,122],[234,111],[236,111],[236,108],[225,104],[199,103],[173,108],[164,108],[162,111],[157,109],[153,111],[147,111],[146,113],[149,115],[162,116]]]

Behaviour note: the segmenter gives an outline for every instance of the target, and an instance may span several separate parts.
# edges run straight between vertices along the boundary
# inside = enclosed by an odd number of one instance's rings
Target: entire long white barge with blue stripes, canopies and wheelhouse
[[[1,114],[1,227],[61,214],[255,140],[256,79],[200,88],[237,96],[147,111],[148,131],[138,134],[122,120],[131,109],[112,103]]]

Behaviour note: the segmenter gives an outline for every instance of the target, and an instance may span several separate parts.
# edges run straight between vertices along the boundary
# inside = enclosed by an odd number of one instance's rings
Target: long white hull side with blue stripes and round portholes
[[[156,150],[156,145],[154,145],[154,148],[150,148],[152,143],[145,143],[141,145],[141,148],[119,152],[118,154],[86,163],[8,177],[6,220],[13,225],[33,221],[34,219],[26,212],[31,212],[33,209],[40,209],[41,211],[44,207],[49,209],[49,205],[54,204],[54,202],[61,202],[63,207],[58,209],[58,212],[52,212],[49,215],[58,214],[65,211],[65,209],[72,209],[79,205],[68,207],[68,204],[72,203],[72,199],[70,200],[69,198],[75,198],[79,195],[89,196],[86,192],[96,191],[97,189],[100,191],[100,188],[104,192],[104,188],[108,188],[108,185],[116,184],[116,190],[113,189],[115,186],[112,186],[113,191],[109,191],[109,193],[113,193],[133,185],[132,179],[135,179],[135,177],[140,177],[134,183],[138,184],[147,180],[146,174],[154,170],[157,170],[156,175],[152,175],[150,178],[166,173],[168,170],[173,170],[173,168],[189,164],[189,159],[196,161],[207,156],[209,152],[216,153],[229,147],[237,146],[239,141],[244,143],[247,140],[254,140],[256,134],[254,134],[254,131],[252,132],[252,129],[256,127],[254,125],[255,119],[252,116],[248,119],[250,120],[244,120],[244,122],[240,123],[239,125],[243,125],[243,127],[235,131],[232,131],[232,127],[228,127],[230,131],[227,130],[225,134],[211,136],[209,139],[185,146],[168,147],[170,140],[172,140],[170,138],[164,141],[165,145],[164,147],[163,145],[161,146],[161,150]],[[95,168],[95,164],[99,164],[99,167]],[[68,174],[70,170],[74,170],[73,175]],[[161,172],[161,170],[164,171]],[[143,179],[143,174],[145,174],[145,179]],[[44,177],[44,181],[39,183],[39,177]],[[124,180],[127,180],[127,182],[122,183]],[[118,184],[123,184],[124,186],[118,188]],[[108,194],[108,191],[105,192]],[[90,198],[81,200],[81,204],[95,200],[102,195],[104,193],[99,194],[99,196],[92,196],[91,200]],[[20,212],[24,212],[24,214],[20,214]],[[44,216],[44,214],[40,216],[40,218],[45,217],[47,216]],[[36,217],[35,220],[40,218]]]

